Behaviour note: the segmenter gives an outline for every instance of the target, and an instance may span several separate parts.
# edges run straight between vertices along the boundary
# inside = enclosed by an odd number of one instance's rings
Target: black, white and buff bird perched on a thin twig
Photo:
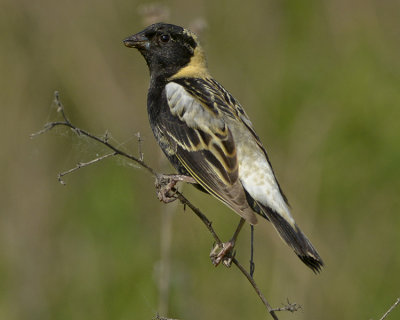
[[[301,261],[320,272],[324,262],[295,222],[252,122],[211,76],[197,35],[159,22],[123,43],[147,63],[150,126],[178,173],[250,225],[257,215],[270,221]]]

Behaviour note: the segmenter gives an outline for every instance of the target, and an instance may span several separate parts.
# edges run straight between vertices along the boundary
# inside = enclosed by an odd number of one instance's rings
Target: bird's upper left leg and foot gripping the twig
[[[190,176],[180,174],[158,174],[155,182],[158,199],[164,203],[175,201],[175,185],[179,181],[186,183],[197,183],[196,180]]]

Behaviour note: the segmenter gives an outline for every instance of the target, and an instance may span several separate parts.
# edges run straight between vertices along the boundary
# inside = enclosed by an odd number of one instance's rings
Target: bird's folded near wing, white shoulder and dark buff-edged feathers
[[[251,224],[257,223],[238,179],[235,142],[221,105],[204,86],[196,89],[184,82],[169,82],[165,98],[168,108],[157,125],[175,147],[178,160],[210,194]]]

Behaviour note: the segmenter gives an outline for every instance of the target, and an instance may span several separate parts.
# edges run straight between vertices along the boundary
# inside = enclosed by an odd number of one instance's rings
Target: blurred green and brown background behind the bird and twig
[[[212,74],[246,108],[325,260],[315,276],[257,226],[257,283],[273,306],[302,305],[280,319],[378,319],[400,295],[399,13],[396,0],[1,0],[0,319],[268,318],[145,171],[107,159],[62,186],[59,172],[106,150],[65,128],[29,138],[59,119],[59,90],[77,126],[133,154],[140,132],[145,161],[172,172],[147,121],[147,67],[121,42],[158,18],[203,29]],[[227,240],[237,216],[184,193]],[[248,226],[237,249],[248,267]]]

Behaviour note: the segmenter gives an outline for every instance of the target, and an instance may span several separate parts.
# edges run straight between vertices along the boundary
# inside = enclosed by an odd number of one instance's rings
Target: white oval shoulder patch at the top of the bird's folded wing
[[[165,86],[165,93],[171,113],[189,127],[205,132],[210,132],[210,127],[220,130],[225,127],[225,122],[219,115],[208,110],[180,84],[168,83]]]

